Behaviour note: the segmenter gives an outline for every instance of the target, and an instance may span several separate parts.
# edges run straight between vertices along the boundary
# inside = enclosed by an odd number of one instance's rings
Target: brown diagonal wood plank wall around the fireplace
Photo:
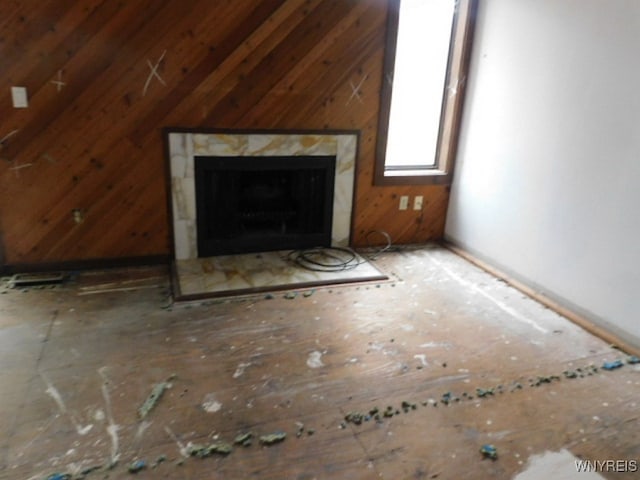
[[[360,130],[353,244],[441,237],[447,187],[373,186],[386,16],[386,0],[0,2],[1,263],[170,254],[165,126]]]

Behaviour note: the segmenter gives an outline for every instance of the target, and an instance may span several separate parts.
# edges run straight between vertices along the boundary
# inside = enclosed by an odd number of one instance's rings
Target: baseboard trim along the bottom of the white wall
[[[602,325],[599,325],[597,321],[591,320],[587,318],[585,315],[577,313],[575,309],[568,307],[566,305],[563,305],[562,302],[552,299],[547,295],[534,290],[531,286],[527,285],[525,282],[513,278],[512,275],[507,275],[502,270],[490,265],[486,261],[481,260],[477,256],[469,253],[464,248],[456,245],[451,240],[443,239],[441,240],[441,244],[443,247],[452,251],[456,255],[464,258],[465,260],[471,262],[472,264],[476,265],[477,267],[481,268],[487,273],[490,273],[491,275],[501,280],[504,280],[507,284],[509,284],[513,288],[519,290],[520,292],[534,299],[535,301],[543,304],[544,306],[554,311],[558,315],[562,315],[563,317],[567,318],[568,320],[575,323],[576,325],[583,328],[584,330],[591,333],[592,335],[595,335],[596,337],[601,338],[605,342],[615,346],[616,348],[618,348],[619,350],[627,354],[640,356],[640,346],[634,342],[627,341],[622,337],[621,334],[612,332],[611,330],[603,327]]]

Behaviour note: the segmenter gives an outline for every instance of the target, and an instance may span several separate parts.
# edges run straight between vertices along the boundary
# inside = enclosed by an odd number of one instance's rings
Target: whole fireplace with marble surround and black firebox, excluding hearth
[[[357,131],[207,131],[171,127],[164,133],[176,261],[219,255],[233,251],[241,243],[252,251],[349,246]],[[200,181],[196,181],[196,169],[207,170],[201,163],[215,169],[216,162],[221,162],[218,170],[222,171],[206,173],[209,180],[197,186]],[[220,181],[220,175],[226,179]],[[251,183],[254,185],[248,186]],[[323,194],[312,195],[320,185],[324,185]],[[209,193],[203,193],[207,189]],[[200,193],[196,194],[196,190]],[[210,205],[205,202],[203,206],[196,196],[208,197]],[[235,203],[229,201],[232,196],[237,197]],[[253,206],[249,210],[254,211],[244,211],[250,202]],[[295,209],[288,210],[292,206]],[[235,210],[234,221],[226,218],[230,210]],[[225,236],[233,239],[223,242]],[[280,246],[275,240],[270,243],[276,237],[282,241]]]

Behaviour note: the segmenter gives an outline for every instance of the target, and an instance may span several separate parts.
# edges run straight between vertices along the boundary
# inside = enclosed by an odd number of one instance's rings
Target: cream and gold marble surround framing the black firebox
[[[195,156],[336,156],[331,244],[350,243],[357,131],[241,131],[165,129],[169,175],[174,256],[176,260],[198,258]],[[301,161],[304,159],[301,158]]]

